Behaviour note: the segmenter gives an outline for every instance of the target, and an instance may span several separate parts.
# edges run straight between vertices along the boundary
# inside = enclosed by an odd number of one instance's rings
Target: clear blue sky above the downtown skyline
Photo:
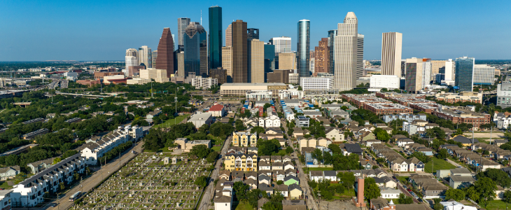
[[[209,31],[208,8],[223,8],[225,29],[244,20],[260,40],[290,36],[310,20],[311,50],[346,13],[358,18],[364,59],[381,59],[381,33],[402,33],[402,59],[511,59],[511,1],[0,1],[0,61],[124,60],[125,50],[157,50],[164,27],[177,18]],[[177,42],[177,38],[176,38]]]

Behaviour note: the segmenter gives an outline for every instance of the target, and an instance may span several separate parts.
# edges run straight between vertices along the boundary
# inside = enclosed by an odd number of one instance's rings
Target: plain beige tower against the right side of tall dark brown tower
[[[247,80],[248,83],[265,82],[265,43],[259,39],[247,41]]]

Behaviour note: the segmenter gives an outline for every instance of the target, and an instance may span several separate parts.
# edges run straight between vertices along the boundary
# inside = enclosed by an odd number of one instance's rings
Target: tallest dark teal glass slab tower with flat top
[[[222,8],[209,8],[209,68],[222,66]]]

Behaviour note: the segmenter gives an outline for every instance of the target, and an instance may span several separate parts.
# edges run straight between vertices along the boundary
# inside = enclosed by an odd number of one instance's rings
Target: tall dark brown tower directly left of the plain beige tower
[[[246,22],[232,22],[232,82],[247,83]]]

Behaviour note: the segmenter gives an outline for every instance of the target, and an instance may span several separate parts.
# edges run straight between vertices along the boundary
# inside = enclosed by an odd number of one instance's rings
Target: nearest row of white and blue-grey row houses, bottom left
[[[22,207],[35,207],[44,201],[44,193],[55,193],[60,183],[70,184],[75,173],[83,174],[85,165],[80,153],[73,155],[13,186],[11,196]]]

